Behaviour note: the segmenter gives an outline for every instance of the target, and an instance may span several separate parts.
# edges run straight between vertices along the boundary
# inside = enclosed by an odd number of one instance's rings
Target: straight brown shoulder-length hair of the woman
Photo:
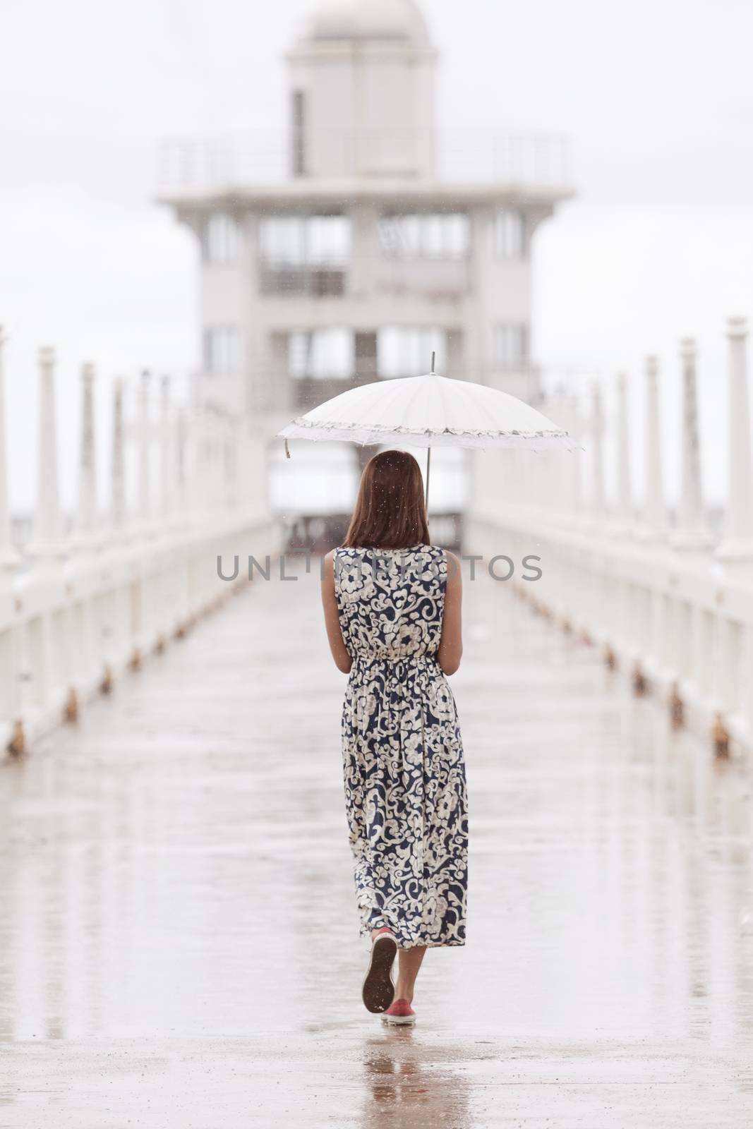
[[[383,450],[361,474],[343,545],[406,549],[429,544],[421,467],[405,450]]]

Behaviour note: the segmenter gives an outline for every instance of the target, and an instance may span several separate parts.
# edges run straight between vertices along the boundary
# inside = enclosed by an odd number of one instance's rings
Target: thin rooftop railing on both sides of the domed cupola
[[[435,177],[439,181],[505,181],[522,186],[567,187],[572,183],[569,139],[559,133],[435,130]],[[417,138],[418,141],[426,140]],[[358,168],[366,140],[340,133]],[[370,142],[369,142],[370,143]],[[160,142],[157,184],[163,192],[219,190],[292,180],[291,145],[284,131],[261,130]],[[298,177],[305,180],[305,177]]]

